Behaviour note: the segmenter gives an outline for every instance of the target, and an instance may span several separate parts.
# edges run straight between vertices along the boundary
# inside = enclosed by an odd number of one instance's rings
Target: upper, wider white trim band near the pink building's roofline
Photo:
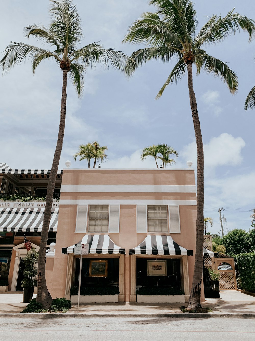
[[[196,193],[196,186],[183,185],[62,185],[62,193]]]

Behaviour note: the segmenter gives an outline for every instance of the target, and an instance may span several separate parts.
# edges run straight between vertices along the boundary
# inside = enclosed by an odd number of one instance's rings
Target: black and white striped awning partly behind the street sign
[[[85,235],[77,244],[89,244],[89,254],[125,254],[125,249],[117,246],[108,235]],[[62,248],[62,253],[73,253],[74,245]]]

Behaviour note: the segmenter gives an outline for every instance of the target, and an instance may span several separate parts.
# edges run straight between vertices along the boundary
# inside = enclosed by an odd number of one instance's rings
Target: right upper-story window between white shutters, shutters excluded
[[[168,232],[167,205],[148,205],[148,232]]]

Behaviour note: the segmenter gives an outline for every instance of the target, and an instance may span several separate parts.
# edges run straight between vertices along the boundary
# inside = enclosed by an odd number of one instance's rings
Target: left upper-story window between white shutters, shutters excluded
[[[109,205],[89,205],[88,232],[108,232]]]

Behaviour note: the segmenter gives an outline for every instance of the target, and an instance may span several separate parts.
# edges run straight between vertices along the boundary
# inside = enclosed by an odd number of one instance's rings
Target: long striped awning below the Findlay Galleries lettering
[[[0,232],[41,232],[44,208],[2,208]],[[50,232],[57,231],[58,207],[52,208]]]

